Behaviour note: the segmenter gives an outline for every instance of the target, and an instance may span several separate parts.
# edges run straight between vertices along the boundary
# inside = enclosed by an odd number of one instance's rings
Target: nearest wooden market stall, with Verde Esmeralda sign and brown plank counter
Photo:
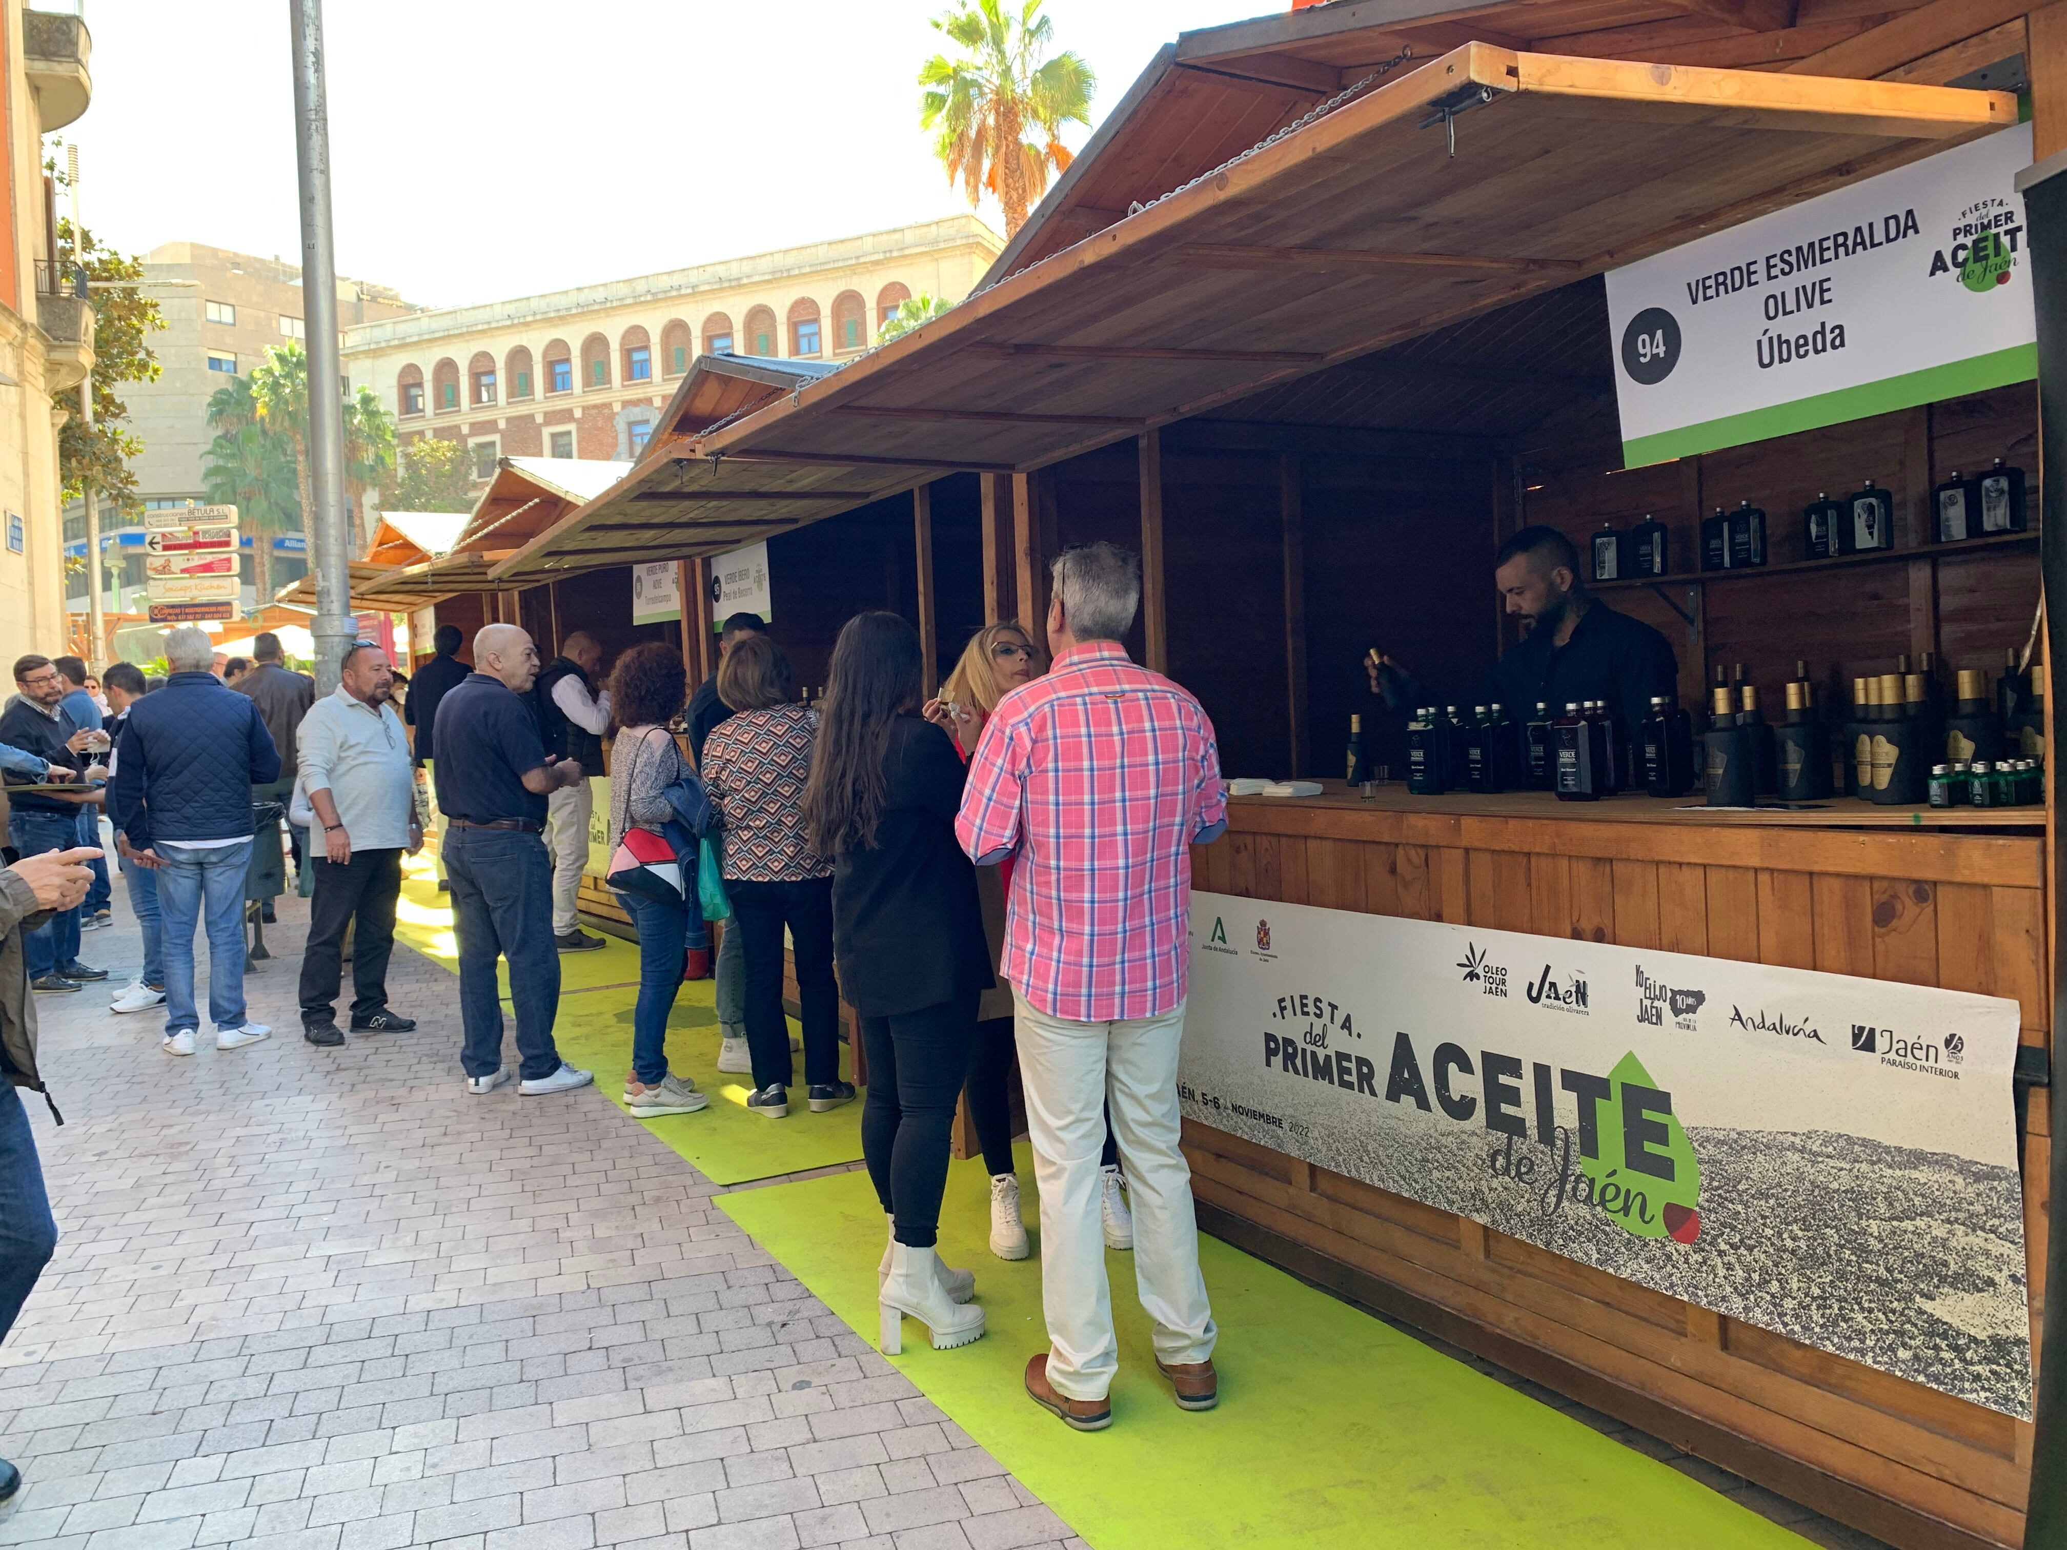
[[[2028,380],[1625,471],[1600,275],[2011,126],[1997,85],[2028,83],[2036,151],[2061,149],[2067,6],[2030,10],[1352,0],[1189,35],[965,304],[843,370],[672,413],[496,575],[575,572],[606,544],[701,564],[891,498],[924,556],[953,486],[988,618],[1038,626],[1065,544],[1141,548],[1131,647],[1201,696],[1230,775],[1341,769],[1350,713],[1379,715],[1370,645],[1468,684],[1511,645],[1486,570],[1525,523],[1583,537],[1656,515],[1693,556],[1709,506],[1776,513],[1759,570],[1683,562],[1602,591],[1666,630],[1691,705],[1726,663],[1769,703],[1800,657],[1825,692],[1926,651],[1999,670],[2040,597],[2036,496],[2005,539],[1929,546],[1924,525],[1951,469],[2036,475]],[[1895,548],[1790,550],[1794,513],[1862,477],[1898,496]],[[1195,876],[1978,990],[2015,1002],[2019,1068],[2044,1083],[2055,858],[2050,800],[1711,816],[1395,783],[1238,798]],[[2053,1168],[2048,1104],[2026,1091],[2036,1327]],[[1900,1546],[2048,1542],[2026,1540],[2026,1507],[2057,1511],[2059,1474],[2034,1463],[2057,1465],[2059,1432],[1195,1120],[1186,1149],[1207,1230],[1344,1296]]]

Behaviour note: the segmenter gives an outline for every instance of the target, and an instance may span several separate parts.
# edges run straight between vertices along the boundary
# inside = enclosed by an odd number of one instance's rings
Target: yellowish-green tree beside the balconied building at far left
[[[128,463],[143,440],[128,428],[128,405],[116,389],[157,380],[151,335],[165,329],[165,318],[153,298],[126,283],[143,279],[143,260],[103,248],[91,229],[74,234],[70,221],[58,221],[58,269],[66,277],[85,269],[93,298],[93,426],[79,413],[79,389],[50,395],[66,415],[58,430],[62,500],[81,500],[91,486],[110,517],[134,517],[143,506]]]

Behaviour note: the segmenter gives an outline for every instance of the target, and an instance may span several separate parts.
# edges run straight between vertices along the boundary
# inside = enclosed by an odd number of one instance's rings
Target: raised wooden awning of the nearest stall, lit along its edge
[[[1042,467],[2015,116],[2007,93],[1468,43],[1352,85],[914,333],[649,451],[494,575],[713,554],[945,471]]]

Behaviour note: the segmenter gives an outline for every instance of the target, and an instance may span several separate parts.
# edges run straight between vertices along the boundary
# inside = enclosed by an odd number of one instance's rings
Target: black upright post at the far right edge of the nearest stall
[[[2038,570],[2046,601],[2046,696],[2067,690],[2067,151],[2017,174],[2024,194],[2026,242],[2032,265],[2032,310],[2038,314]],[[2055,781],[2055,823],[2048,839],[2059,845],[2059,779],[2067,717],[2057,707],[2046,775]],[[2055,880],[2061,872],[2055,868]],[[2055,889],[2057,895],[2057,889]],[[2067,901],[2050,899],[2055,928],[2067,924]],[[2034,1393],[2032,1490],[2026,1502],[2024,1544],[2067,1544],[2067,984],[2055,980],[2050,1110],[2046,1133],[2050,1178],[2026,1178],[2026,1192],[2046,1190],[2046,1279],[2038,1331]],[[2019,1145],[2024,1137],[2017,1137]]]

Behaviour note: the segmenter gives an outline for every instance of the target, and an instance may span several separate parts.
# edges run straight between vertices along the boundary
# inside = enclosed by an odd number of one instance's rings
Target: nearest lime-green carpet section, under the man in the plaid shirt
[[[1021,1172],[1021,1197],[1034,1203]],[[719,1205],[870,1345],[883,1209],[854,1172]],[[940,1246],[976,1269],[984,1339],[934,1352],[905,1321],[891,1362],[1096,1550],[1802,1550],[1802,1540],[1577,1420],[1213,1238],[1220,1409],[1155,1374],[1129,1254],[1108,1254],[1120,1335],[1114,1426],[1071,1432],[1023,1389],[1048,1347],[1040,1261],[986,1248],[978,1159],[955,1164]]]

